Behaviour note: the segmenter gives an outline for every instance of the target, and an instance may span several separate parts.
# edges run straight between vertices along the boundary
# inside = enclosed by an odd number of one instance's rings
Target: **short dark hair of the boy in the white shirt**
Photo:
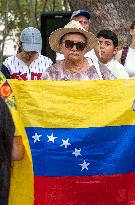
[[[103,37],[105,39],[110,39],[113,42],[114,47],[118,46],[118,38],[117,35],[111,30],[101,30],[97,34],[97,38]]]

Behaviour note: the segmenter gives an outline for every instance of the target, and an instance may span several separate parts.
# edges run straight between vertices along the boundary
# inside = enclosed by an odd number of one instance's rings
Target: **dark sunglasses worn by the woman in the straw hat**
[[[83,43],[83,42],[75,43],[74,41],[65,40],[62,43],[64,43],[65,47],[69,49],[72,49],[74,46],[76,46],[77,51],[83,51],[84,48],[86,47],[86,43]]]

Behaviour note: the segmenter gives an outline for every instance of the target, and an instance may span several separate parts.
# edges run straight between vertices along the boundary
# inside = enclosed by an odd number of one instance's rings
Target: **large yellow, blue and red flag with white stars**
[[[135,80],[10,84],[31,148],[35,205],[135,204]]]

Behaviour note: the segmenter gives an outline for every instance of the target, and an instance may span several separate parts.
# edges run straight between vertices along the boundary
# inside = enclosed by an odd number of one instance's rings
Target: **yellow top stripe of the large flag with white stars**
[[[135,80],[10,80],[26,127],[81,128],[135,124]]]

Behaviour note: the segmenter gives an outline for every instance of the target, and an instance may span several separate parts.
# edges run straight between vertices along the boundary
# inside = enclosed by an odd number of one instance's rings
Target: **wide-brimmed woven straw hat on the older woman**
[[[87,39],[86,52],[93,49],[98,44],[97,37],[86,31],[78,21],[72,20],[64,28],[53,31],[49,37],[49,44],[53,51],[60,53],[60,39],[68,33],[82,33]]]

